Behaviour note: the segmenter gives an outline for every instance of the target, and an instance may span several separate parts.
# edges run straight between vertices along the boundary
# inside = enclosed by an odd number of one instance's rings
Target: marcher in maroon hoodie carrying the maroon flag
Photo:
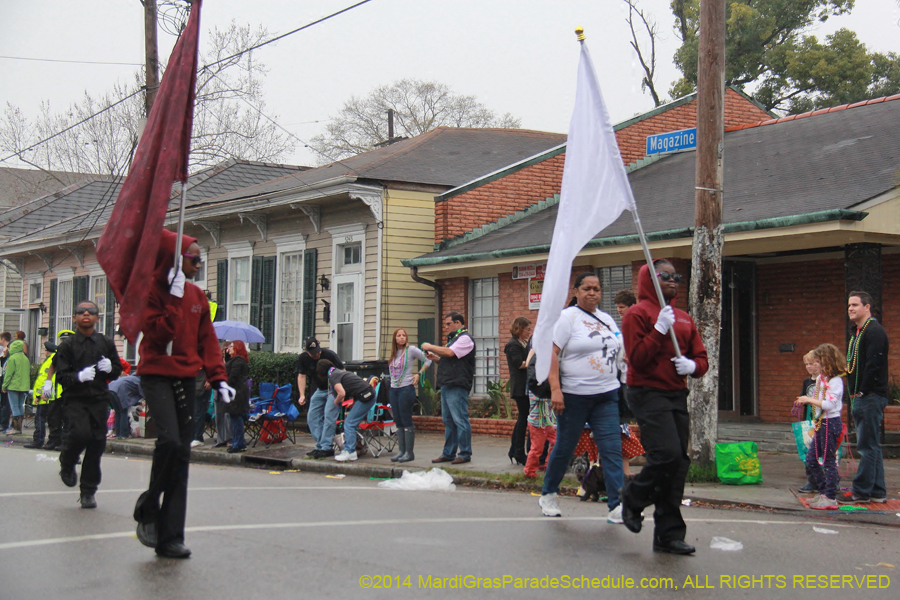
[[[142,544],[155,548],[159,556],[187,558],[191,551],[184,545],[184,521],[194,433],[194,380],[203,369],[226,403],[234,398],[234,389],[226,383],[206,295],[185,281],[200,268],[200,246],[195,238],[182,237],[182,266],[175,273],[176,237],[163,230],[144,313],[137,372],[158,438],[150,487],[138,498],[134,520]]]

